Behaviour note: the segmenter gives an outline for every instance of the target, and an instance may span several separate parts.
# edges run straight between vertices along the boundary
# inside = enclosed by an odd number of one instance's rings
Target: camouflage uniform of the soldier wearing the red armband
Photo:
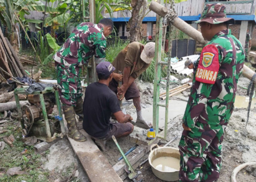
[[[212,21],[217,22],[214,18]],[[220,67],[214,84],[196,81],[196,74],[193,77],[182,119],[191,131],[182,132],[178,146],[182,182],[218,179],[224,130],[233,112],[237,82],[245,58],[241,43],[229,29],[218,32],[207,45],[217,47]]]

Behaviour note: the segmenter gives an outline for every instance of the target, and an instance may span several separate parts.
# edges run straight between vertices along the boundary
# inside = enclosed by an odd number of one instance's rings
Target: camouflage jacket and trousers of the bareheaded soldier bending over
[[[59,51],[53,56],[57,69],[57,83],[63,104],[76,106],[82,96],[80,73],[82,65],[95,55],[95,63],[106,57],[106,39],[99,24],[81,23],[70,34]]]

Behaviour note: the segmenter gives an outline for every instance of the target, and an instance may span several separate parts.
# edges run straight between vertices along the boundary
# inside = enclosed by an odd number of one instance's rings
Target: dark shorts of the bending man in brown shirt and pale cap
[[[109,83],[109,88],[113,92],[117,93],[117,86],[118,86],[118,83],[116,82],[116,80],[112,79],[111,82]],[[132,84],[129,86],[126,93],[124,94],[125,100],[130,100],[132,98],[139,97],[139,96],[140,96],[140,91],[136,86],[136,83],[132,82]]]

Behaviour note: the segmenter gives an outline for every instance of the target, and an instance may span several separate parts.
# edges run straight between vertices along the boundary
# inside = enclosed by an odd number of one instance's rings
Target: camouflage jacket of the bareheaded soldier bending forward
[[[99,24],[81,23],[70,34],[63,46],[53,56],[54,61],[69,72],[78,75],[78,68],[95,55],[95,63],[106,57],[106,39]],[[97,59],[98,58],[98,59]]]

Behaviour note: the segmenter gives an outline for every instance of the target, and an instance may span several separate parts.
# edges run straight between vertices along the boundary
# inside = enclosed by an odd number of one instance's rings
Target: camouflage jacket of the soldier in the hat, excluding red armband
[[[193,128],[196,122],[216,126],[229,121],[234,108],[237,82],[244,65],[245,53],[229,29],[218,32],[207,44],[218,49],[219,71],[214,84],[195,80],[183,116],[183,123]],[[201,53],[202,54],[202,53]]]

